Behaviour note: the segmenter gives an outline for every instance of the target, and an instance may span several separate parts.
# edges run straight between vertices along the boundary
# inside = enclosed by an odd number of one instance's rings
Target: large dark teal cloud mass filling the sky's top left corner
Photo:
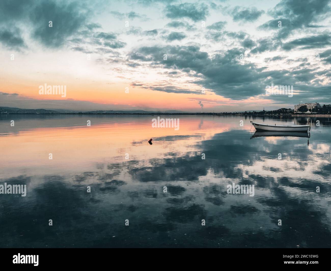
[[[8,14],[11,14],[11,17]],[[116,40],[115,33],[94,32],[95,29],[101,28],[101,25],[89,23],[91,15],[89,5],[80,1],[4,0],[0,3],[0,42],[10,48],[24,47],[24,40],[20,36],[22,30],[17,27],[8,27],[11,23],[20,25],[20,27],[24,23],[31,28],[32,38],[51,48],[71,43],[73,50],[90,53],[94,51],[94,48],[86,46],[101,46],[102,41],[105,41],[105,47],[122,48],[125,46],[124,42]],[[138,16],[134,12],[127,15],[129,18]],[[3,18],[7,20],[5,25]],[[49,27],[49,21],[52,21],[52,27]],[[83,46],[84,44],[85,46]]]

